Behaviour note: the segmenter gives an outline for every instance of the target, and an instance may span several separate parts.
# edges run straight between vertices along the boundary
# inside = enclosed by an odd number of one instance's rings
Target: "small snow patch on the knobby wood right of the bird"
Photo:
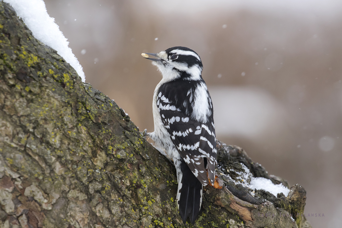
[[[273,195],[277,196],[278,193],[282,192],[285,196],[289,195],[290,189],[282,184],[275,185],[271,180],[263,177],[252,177],[251,183],[248,186],[251,189],[265,189],[271,192]]]

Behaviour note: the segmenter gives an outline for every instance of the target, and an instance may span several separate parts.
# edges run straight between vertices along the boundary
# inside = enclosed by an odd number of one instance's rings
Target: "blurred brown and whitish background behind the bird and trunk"
[[[86,82],[140,131],[161,79],[141,53],[196,51],[217,138],[304,186],[313,227],[341,227],[342,1],[44,1]]]

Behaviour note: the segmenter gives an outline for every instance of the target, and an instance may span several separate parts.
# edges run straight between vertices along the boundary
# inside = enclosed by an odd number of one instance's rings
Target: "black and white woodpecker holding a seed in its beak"
[[[153,96],[154,132],[145,133],[173,160],[179,213],[184,223],[189,217],[194,224],[203,186],[215,182],[213,105],[201,76],[203,65],[196,52],[181,46],[142,56],[152,60],[163,76]]]

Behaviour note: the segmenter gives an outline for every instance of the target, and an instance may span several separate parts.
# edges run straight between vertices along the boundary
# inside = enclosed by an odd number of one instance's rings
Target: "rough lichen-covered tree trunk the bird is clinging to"
[[[1,228],[310,227],[304,188],[253,192],[252,176],[287,183],[219,141],[223,188],[205,187],[196,224],[183,224],[175,168],[129,116],[3,2],[0,31]]]

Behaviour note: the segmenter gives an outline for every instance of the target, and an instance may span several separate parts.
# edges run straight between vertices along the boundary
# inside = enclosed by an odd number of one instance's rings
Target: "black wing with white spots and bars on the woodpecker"
[[[174,86],[172,90],[174,90]],[[185,92],[186,93],[186,92]],[[159,88],[157,97],[157,106],[163,124],[165,125],[173,144],[180,153],[181,158],[189,166],[193,174],[198,178],[202,185],[208,184],[206,168],[208,168],[208,176],[210,182],[214,184],[215,180],[215,161],[216,161],[216,138],[215,126],[212,118],[209,121],[202,123],[191,117],[185,106],[191,106],[190,98],[194,94],[187,93],[183,97],[181,105],[178,100],[176,102],[174,93],[170,91],[170,86],[164,85]],[[185,103],[188,105],[183,105]],[[208,102],[212,108],[211,99],[209,96]],[[206,158],[207,162],[203,159]],[[205,164],[207,163],[207,164]],[[207,165],[207,167],[205,167]]]

